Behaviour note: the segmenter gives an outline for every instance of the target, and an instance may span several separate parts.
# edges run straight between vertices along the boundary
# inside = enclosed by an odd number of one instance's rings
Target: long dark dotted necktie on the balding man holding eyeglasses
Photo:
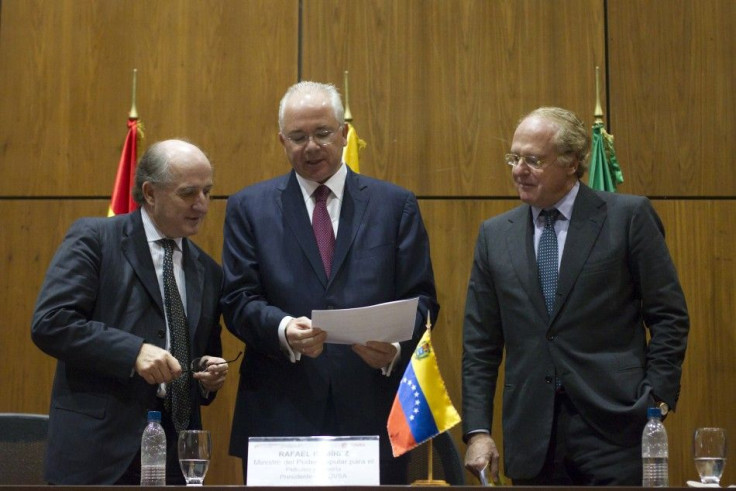
[[[182,369],[189,368],[189,329],[187,318],[184,314],[184,304],[179,295],[174,277],[174,247],[176,242],[171,239],[159,241],[164,247],[164,308],[169,322],[169,334],[171,335],[171,354],[179,360]],[[171,411],[171,419],[177,431],[186,430],[189,427],[189,415],[191,411],[190,392],[191,373],[182,374],[179,378],[169,384],[166,392],[165,408]]]

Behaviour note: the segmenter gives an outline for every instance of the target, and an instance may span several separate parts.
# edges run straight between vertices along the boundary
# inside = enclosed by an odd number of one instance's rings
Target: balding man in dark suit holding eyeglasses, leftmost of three
[[[36,345],[58,359],[45,470],[50,483],[139,484],[148,410],[163,413],[167,483],[184,483],[176,430],[201,428],[199,406],[212,402],[227,374],[220,358],[222,270],[187,239],[199,230],[211,188],[212,167],[197,147],[156,143],[136,170],[133,194],[142,208],[80,219],[57,250],[31,327]],[[183,299],[187,358],[202,357],[196,368],[204,371],[193,376],[182,371],[189,361],[168,351],[176,337],[167,328],[172,315],[165,309],[160,239],[175,243],[169,257],[177,285],[169,292],[178,286]],[[175,427],[166,401],[175,380],[183,395],[173,404],[188,419],[177,426],[184,427]],[[187,393],[190,404],[180,404]]]

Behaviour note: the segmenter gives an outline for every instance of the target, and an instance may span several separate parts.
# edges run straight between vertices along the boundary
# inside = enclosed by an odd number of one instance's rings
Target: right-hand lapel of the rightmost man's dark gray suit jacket
[[[557,315],[577,281],[580,271],[593,249],[603,223],[606,220],[607,209],[605,202],[600,199],[589,187],[580,183],[580,190],[575,198],[575,204],[570,217],[570,226],[565,240],[565,250],[560,263],[560,276],[557,283],[557,292],[560,294],[555,303],[552,317]]]

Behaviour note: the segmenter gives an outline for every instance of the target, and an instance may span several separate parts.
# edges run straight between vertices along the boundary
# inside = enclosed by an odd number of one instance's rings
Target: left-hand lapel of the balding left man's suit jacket
[[[143,230],[143,220],[141,219],[141,211],[136,210],[129,215],[129,220],[123,227],[123,236],[120,242],[120,248],[123,256],[130,263],[135,271],[136,276],[151,296],[153,303],[163,315],[164,305],[161,298],[161,290],[158,286],[156,271],[153,268],[153,259],[151,259],[151,249],[148,247],[148,239],[146,232]]]

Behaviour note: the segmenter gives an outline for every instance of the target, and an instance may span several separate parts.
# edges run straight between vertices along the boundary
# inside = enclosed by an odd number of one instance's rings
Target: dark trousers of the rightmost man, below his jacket
[[[622,447],[591,428],[562,392],[555,398],[555,419],[547,457],[532,479],[517,486],[641,486],[641,446]]]

